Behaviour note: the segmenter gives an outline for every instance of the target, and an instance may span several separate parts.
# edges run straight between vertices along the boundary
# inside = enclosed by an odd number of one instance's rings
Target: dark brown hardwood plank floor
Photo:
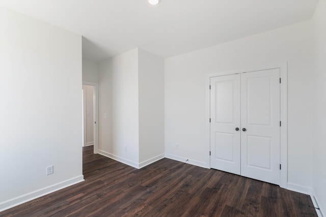
[[[84,148],[85,181],[0,216],[317,216],[308,195],[162,159],[140,170]]]

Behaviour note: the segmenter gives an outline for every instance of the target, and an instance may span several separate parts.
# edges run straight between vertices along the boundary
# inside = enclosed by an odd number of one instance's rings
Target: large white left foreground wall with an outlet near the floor
[[[2,7],[0,32],[1,211],[83,171],[82,37]]]

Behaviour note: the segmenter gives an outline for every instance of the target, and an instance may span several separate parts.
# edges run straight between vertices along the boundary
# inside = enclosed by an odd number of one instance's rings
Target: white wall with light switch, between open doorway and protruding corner
[[[139,165],[138,97],[138,49],[99,63],[99,153],[133,167]]]

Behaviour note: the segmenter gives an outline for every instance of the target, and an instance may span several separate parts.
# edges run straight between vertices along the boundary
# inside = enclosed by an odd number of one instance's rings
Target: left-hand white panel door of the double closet
[[[240,174],[240,75],[210,80],[210,167]]]

